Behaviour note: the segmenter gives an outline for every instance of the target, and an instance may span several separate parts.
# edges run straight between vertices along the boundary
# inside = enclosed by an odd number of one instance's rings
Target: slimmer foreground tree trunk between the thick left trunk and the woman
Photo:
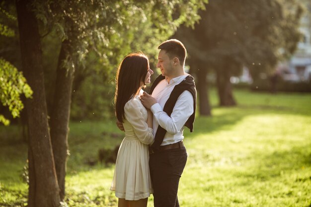
[[[63,62],[70,54],[72,54],[70,42],[65,40],[62,43],[62,48],[58,59],[56,88],[51,114],[51,138],[53,154],[58,183],[60,186],[60,198],[62,201],[65,197],[68,131],[72,85],[74,79],[74,69],[65,68]]]

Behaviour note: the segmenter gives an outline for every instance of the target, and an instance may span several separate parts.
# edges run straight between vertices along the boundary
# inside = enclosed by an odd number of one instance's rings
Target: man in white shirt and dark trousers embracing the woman
[[[156,78],[149,95],[141,96],[143,105],[154,114],[155,142],[150,147],[150,173],[155,207],[179,207],[178,184],[187,161],[183,144],[184,126],[193,130],[196,109],[194,79],[185,73],[186,49],[171,39],[161,43]]]

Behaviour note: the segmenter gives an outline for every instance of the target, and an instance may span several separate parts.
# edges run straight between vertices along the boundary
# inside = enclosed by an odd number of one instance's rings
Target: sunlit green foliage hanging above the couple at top
[[[72,42],[72,55],[77,56],[73,64],[88,67],[86,56],[94,51],[102,66],[94,71],[110,77],[109,71],[128,53],[155,54],[152,44],[171,36],[179,24],[198,21],[197,12],[204,2],[207,0],[36,0],[34,6],[44,25],[43,34],[55,30],[61,40]]]

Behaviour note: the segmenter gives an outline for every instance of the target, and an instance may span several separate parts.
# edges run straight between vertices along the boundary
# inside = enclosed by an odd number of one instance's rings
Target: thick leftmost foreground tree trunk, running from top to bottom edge
[[[29,201],[28,207],[59,207],[52,144],[48,127],[38,23],[31,0],[16,0],[22,68],[34,91],[26,100],[29,132]]]

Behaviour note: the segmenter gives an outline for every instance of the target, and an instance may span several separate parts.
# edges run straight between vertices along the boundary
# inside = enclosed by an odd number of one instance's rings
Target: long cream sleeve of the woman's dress
[[[155,140],[153,129],[149,128],[147,122],[144,120],[141,111],[143,106],[139,101],[140,100],[133,99],[125,104],[125,118],[133,126],[137,138],[144,144],[151,144]]]

